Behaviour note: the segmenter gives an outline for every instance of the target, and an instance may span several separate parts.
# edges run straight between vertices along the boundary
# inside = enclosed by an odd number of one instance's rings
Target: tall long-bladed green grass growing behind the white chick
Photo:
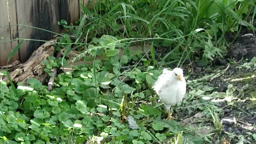
[[[154,46],[172,49],[165,61],[182,59],[183,64],[199,57],[206,65],[226,51],[226,32],[253,28],[245,20],[254,20],[254,5],[253,0],[97,1],[91,10],[82,6],[89,19],[84,35],[89,41],[104,34],[120,40],[157,37]]]

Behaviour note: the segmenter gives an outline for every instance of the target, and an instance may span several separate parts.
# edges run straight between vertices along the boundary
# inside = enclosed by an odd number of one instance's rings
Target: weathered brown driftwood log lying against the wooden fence
[[[48,56],[54,54],[54,43],[52,42],[56,42],[56,40],[50,40],[50,42],[44,43],[33,52],[33,54],[25,63],[21,64],[15,70],[10,72],[10,78],[12,82],[22,82],[25,84],[29,78],[36,78],[44,83],[47,74],[44,72],[44,66],[42,65],[42,62],[46,60]],[[4,77],[3,80],[9,83],[7,77]]]

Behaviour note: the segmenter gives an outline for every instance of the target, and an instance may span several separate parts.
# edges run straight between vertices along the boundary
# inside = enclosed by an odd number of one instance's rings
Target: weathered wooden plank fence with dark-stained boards
[[[8,56],[17,46],[16,38],[50,40],[54,34],[27,26],[60,33],[58,21],[68,24],[80,18],[80,4],[89,0],[0,0],[0,66],[6,65]],[[27,26],[23,26],[27,25]],[[8,42],[6,42],[8,41]],[[26,62],[32,52],[44,42],[26,40],[11,62]],[[9,62],[10,63],[10,62]]]

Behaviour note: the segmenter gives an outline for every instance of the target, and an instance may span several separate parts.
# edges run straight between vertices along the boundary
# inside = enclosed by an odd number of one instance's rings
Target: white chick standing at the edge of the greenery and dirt
[[[183,70],[174,68],[170,71],[165,68],[152,88],[168,112],[166,120],[172,119],[171,106],[181,102],[186,94],[186,80],[183,77]]]

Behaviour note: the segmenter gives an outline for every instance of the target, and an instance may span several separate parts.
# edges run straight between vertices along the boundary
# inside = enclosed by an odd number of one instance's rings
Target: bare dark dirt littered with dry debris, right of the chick
[[[227,34],[226,40],[232,42],[234,37],[234,34]],[[212,135],[214,144],[235,144],[238,142],[256,144],[256,101],[251,100],[251,98],[256,98],[256,68],[252,67],[248,70],[238,68],[244,62],[250,62],[253,57],[256,57],[256,36],[253,36],[250,30],[244,29],[230,44],[224,58],[218,59],[218,65],[215,61],[207,67],[200,67],[198,63],[184,66],[185,74],[186,71],[192,70],[188,80],[222,71],[220,76],[216,76],[209,82],[209,85],[216,88],[218,92],[226,92],[228,86],[232,84],[231,90],[234,91],[234,96],[237,96],[229,104],[226,101],[216,104],[218,108],[224,111],[224,114],[219,117],[219,122],[222,124],[221,132]],[[195,114],[198,113],[195,112],[186,116],[185,112],[183,116],[189,119],[195,117]],[[214,127],[214,123],[211,124]]]

